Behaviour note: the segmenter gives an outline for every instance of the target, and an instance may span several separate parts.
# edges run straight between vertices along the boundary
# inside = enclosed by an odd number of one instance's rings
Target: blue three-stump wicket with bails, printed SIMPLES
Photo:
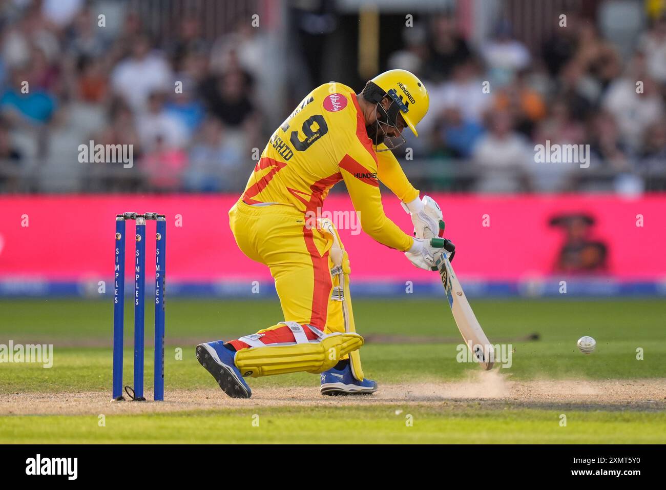
[[[113,287],[113,399],[123,398],[123,329],[125,328],[125,223],[135,220],[134,388],[125,392],[134,401],[143,396],[146,220],[155,220],[155,373],[154,396],[165,399],[165,265],[166,217],[158,213],[116,215],[115,277]],[[132,393],[130,393],[132,391]]]

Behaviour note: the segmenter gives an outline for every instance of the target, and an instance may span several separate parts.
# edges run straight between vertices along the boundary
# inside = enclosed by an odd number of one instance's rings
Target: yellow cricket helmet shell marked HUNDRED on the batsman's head
[[[398,105],[402,119],[418,136],[416,125],[426,115],[430,105],[430,96],[423,82],[414,73],[400,69],[384,71],[370,81]]]

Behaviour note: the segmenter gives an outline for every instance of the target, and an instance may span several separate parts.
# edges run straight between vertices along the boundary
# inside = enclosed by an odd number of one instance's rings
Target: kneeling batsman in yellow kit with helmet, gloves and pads
[[[199,363],[224,393],[249,398],[244,377],[298,371],[321,373],[322,395],[377,390],[361,367],[349,257],[333,223],[313,216],[331,187],[344,181],[363,231],[431,270],[452,244],[404,233],[384,214],[379,189],[381,181],[402,201],[415,229],[440,235],[444,223],[424,211],[390,151],[405,142],[405,127],[418,136],[428,101],[424,84],[400,69],[377,75],[360,94],[330,82],[306,95],[270,137],[229,211],[229,225],[240,250],[270,269],[284,321],[196,347]]]

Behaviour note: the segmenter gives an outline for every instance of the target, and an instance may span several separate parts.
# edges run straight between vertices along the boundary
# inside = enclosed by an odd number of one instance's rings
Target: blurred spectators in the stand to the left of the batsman
[[[184,17],[160,40],[118,5],[111,29],[82,0],[3,3],[0,190],[242,188],[262,127],[250,26],[210,42]],[[89,141],[133,145],[132,168],[80,163]]]

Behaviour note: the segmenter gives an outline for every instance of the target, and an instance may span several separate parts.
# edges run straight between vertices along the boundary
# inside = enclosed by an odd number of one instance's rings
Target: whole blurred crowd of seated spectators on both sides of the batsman
[[[0,191],[242,189],[253,149],[272,130],[266,91],[256,88],[270,77],[260,29],[239,19],[210,41],[200,19],[185,15],[160,39],[131,9],[117,29],[100,28],[98,14],[85,0],[0,5]],[[420,75],[431,97],[422,136],[407,135],[402,149],[420,162],[405,165],[416,185],[666,190],[663,14],[629,55],[604,39],[597,19],[573,12],[538,49],[504,20],[473,44],[447,14],[405,28],[403,41],[387,67]],[[131,171],[80,163],[79,145],[91,140],[133,145]],[[535,163],[546,140],[589,145],[589,169]]]

